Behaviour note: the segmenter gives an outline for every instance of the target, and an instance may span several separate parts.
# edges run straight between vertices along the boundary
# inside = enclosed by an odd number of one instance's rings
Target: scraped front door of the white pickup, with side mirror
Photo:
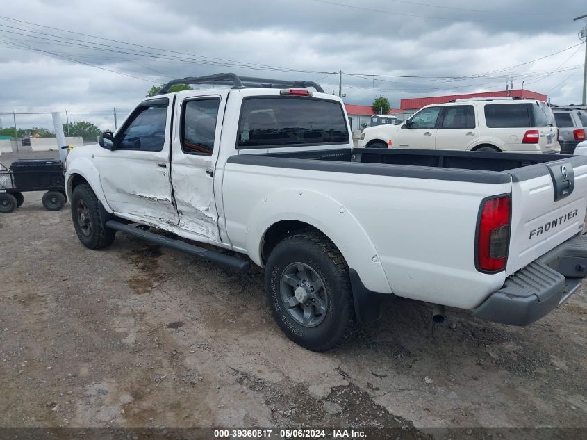
[[[167,98],[143,101],[117,131],[113,149],[94,155],[106,201],[116,213],[177,224],[169,177],[171,107]]]

